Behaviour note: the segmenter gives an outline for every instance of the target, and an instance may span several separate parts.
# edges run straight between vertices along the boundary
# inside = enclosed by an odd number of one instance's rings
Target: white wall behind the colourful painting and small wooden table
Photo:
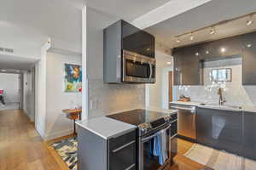
[[[81,93],[64,92],[64,64],[81,65],[82,57],[47,53],[46,56],[46,133],[44,139],[55,139],[73,133],[73,121],[62,112],[71,103],[81,105]]]

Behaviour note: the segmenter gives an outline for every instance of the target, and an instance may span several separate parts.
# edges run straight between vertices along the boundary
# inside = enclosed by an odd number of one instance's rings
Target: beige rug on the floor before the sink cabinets
[[[183,156],[215,170],[255,170],[256,161],[194,144]]]

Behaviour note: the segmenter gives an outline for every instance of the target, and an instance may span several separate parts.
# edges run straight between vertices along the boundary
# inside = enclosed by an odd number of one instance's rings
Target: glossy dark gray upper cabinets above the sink
[[[212,42],[174,48],[174,85],[200,85],[201,61],[241,55],[242,85],[256,85],[256,31]]]

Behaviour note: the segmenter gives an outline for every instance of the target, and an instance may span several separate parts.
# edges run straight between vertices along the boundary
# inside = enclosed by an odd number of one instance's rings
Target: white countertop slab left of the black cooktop
[[[125,122],[119,122],[106,116],[100,116],[84,121],[78,121],[76,124],[89,130],[91,133],[102,137],[103,139],[110,139],[119,136],[123,133],[128,133],[137,127]]]

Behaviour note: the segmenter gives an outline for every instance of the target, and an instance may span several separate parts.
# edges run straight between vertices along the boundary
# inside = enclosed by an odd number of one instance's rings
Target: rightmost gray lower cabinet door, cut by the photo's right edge
[[[256,160],[256,113],[244,112],[243,156]]]

